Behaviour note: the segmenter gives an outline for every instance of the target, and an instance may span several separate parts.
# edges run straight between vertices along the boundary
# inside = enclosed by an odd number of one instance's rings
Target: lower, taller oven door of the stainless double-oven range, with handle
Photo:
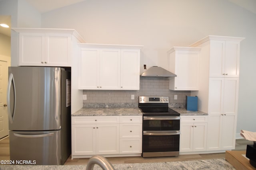
[[[143,131],[142,157],[178,156],[180,131]]]

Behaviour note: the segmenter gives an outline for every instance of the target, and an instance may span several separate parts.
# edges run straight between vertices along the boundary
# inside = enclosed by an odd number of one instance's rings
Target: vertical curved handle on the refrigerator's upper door
[[[13,84],[13,88],[14,88],[14,109],[13,109],[13,113],[11,112],[11,105],[10,105],[10,90],[11,90],[11,85]],[[16,90],[15,90],[15,83],[14,83],[14,78],[13,78],[13,74],[10,74],[9,77],[9,81],[8,81],[8,86],[7,86],[7,108],[8,108],[8,117],[10,120],[10,123],[13,123],[13,119],[14,119],[14,113],[15,113],[15,107],[16,107]]]

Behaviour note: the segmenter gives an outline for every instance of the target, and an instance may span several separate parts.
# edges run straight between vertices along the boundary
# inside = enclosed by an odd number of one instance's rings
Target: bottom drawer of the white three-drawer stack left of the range
[[[141,146],[141,139],[120,139],[120,154],[141,153]]]

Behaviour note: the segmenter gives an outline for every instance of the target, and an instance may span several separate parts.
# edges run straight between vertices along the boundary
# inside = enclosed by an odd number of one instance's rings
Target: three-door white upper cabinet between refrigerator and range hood
[[[141,47],[80,44],[78,88],[139,90]]]

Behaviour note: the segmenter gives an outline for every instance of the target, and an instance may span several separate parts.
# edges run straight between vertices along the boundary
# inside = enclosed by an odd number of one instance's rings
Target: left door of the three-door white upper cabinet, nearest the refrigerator
[[[99,89],[100,50],[79,48],[78,51],[78,89]]]

